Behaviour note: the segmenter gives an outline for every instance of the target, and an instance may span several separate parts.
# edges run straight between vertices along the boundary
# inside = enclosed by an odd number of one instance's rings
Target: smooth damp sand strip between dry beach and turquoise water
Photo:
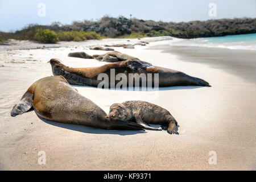
[[[170,46],[169,44],[151,46],[148,49],[158,49],[162,50],[163,53],[177,55],[183,61],[208,64],[213,68],[224,69],[224,71],[256,84],[256,51],[199,46]]]

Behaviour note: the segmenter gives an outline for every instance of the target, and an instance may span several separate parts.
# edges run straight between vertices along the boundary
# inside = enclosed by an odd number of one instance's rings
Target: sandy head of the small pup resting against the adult
[[[126,121],[127,109],[125,105],[115,103],[109,108],[109,118],[112,120]]]

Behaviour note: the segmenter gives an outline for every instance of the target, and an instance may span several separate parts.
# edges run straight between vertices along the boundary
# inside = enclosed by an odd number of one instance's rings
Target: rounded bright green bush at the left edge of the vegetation
[[[54,31],[49,29],[38,28],[36,30],[34,39],[40,43],[56,43],[58,41],[57,35]]]

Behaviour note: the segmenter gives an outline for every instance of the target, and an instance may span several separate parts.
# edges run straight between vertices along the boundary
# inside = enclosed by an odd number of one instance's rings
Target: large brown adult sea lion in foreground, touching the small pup
[[[13,107],[11,116],[23,114],[31,107],[49,121],[97,127],[106,130],[141,130],[131,122],[113,122],[94,102],[82,96],[63,76],[44,77],[32,84]]]

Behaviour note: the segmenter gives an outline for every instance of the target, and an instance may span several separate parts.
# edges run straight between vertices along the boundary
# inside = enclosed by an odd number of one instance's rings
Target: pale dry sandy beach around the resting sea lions
[[[179,39],[102,39],[0,46],[1,170],[255,170],[256,51],[169,46]],[[208,81],[212,87],[173,86],[153,92],[99,90],[73,85],[106,113],[115,102],[143,100],[164,107],[176,118],[179,135],[166,131],[109,131],[42,120],[34,110],[11,117],[27,88],[51,76],[57,58],[69,67],[104,65],[94,59],[68,57],[106,51],[89,46],[138,43],[135,49],[114,47],[153,65],[176,69]],[[46,164],[38,164],[38,152]],[[209,152],[216,164],[209,164]]]

